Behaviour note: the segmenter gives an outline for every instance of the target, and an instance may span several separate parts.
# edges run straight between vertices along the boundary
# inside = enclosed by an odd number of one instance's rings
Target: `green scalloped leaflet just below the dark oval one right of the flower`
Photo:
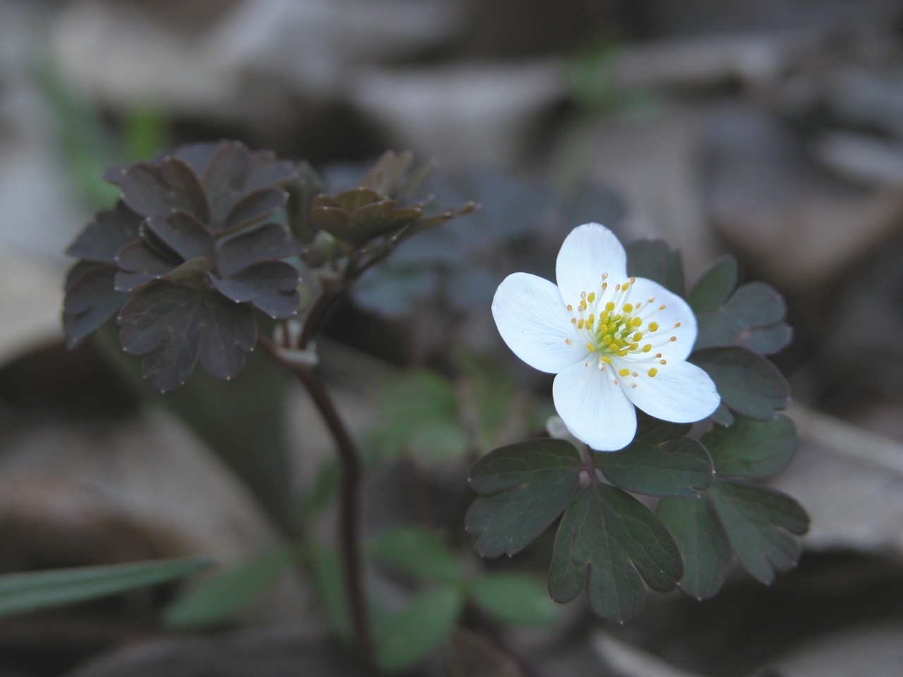
[[[771,421],[738,416],[730,428],[715,426],[702,439],[719,475],[767,478],[793,459],[799,438],[796,426],[778,414]]]

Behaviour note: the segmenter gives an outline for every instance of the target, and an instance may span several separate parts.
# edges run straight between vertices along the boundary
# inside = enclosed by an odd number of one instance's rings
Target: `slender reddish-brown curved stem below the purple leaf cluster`
[[[373,638],[367,614],[362,584],[362,565],[358,540],[358,515],[360,494],[360,455],[351,439],[348,428],[342,421],[339,411],[320,378],[313,373],[311,367],[296,365],[280,355],[278,348],[265,338],[258,336],[258,344],[281,366],[290,370],[311,395],[314,405],[320,412],[323,422],[329,428],[330,435],[339,451],[342,466],[342,482],[339,514],[339,543],[342,559],[345,590],[348,596],[349,616],[354,630],[358,649],[370,672],[376,673],[376,661],[373,653]]]

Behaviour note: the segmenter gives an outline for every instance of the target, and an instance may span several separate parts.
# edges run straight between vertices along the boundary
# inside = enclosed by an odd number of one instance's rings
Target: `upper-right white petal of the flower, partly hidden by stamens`
[[[655,301],[649,304],[650,308],[646,309],[649,297],[654,296]],[[646,336],[643,343],[651,342],[654,345],[657,342],[664,341],[665,344],[659,346],[652,352],[661,353],[668,360],[686,359],[693,352],[693,344],[696,342],[696,316],[689,304],[675,293],[669,292],[661,284],[647,280],[645,277],[638,277],[637,282],[633,284],[633,291],[630,292],[630,302],[636,304],[642,301],[639,315],[644,318],[643,330],[646,330],[647,322],[645,318],[658,323],[658,331],[656,336]],[[656,310],[659,306],[665,306],[662,311]],[[655,314],[651,313],[655,311]],[[680,327],[675,324],[680,322]],[[677,337],[675,341],[668,341],[672,336]]]

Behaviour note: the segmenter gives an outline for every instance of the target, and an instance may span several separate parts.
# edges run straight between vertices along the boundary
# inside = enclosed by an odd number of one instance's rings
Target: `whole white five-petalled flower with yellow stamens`
[[[627,254],[598,223],[574,228],[555,264],[558,286],[515,273],[498,285],[498,332],[526,364],[555,376],[555,409],[573,436],[601,451],[627,446],[634,405],[663,421],[700,421],[721,398],[686,361],[690,306],[661,284],[628,278]]]

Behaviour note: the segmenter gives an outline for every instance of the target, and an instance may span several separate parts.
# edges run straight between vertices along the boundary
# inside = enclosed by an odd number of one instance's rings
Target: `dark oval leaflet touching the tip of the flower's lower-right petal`
[[[721,403],[743,416],[768,421],[790,403],[790,386],[777,367],[747,348],[709,348],[690,361],[712,376]]]

